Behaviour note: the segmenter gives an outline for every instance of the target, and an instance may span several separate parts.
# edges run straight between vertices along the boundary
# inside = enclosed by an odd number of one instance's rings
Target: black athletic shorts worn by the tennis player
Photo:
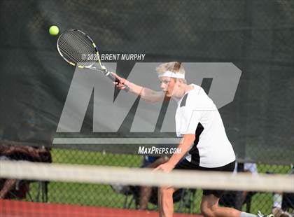
[[[194,164],[188,162],[188,160],[186,160],[186,158],[184,158],[176,165],[176,167],[174,167],[174,169],[191,169],[191,170],[195,169],[195,170],[202,170],[202,171],[233,172],[235,169],[235,161],[230,162],[230,164],[225,165],[223,167],[207,168],[207,167],[200,167],[199,165],[194,165]],[[203,195],[214,195],[218,198],[221,198],[221,195],[223,195],[224,192],[225,192],[225,190],[206,190],[206,189],[203,189]]]

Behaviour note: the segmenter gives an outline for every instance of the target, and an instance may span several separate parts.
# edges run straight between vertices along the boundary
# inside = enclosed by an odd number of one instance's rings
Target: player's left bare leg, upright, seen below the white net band
[[[160,217],[172,217],[174,214],[173,187],[158,188],[158,211]]]

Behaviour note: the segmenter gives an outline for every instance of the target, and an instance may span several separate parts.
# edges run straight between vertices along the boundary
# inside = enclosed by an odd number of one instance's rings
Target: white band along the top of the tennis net
[[[246,173],[230,174],[197,171],[164,173],[141,168],[1,161],[0,177],[74,183],[120,183],[133,186],[294,192],[294,175],[288,174],[259,174],[253,176]]]

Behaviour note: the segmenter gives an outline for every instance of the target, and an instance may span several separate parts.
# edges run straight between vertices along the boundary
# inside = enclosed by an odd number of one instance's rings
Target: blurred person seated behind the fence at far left
[[[52,162],[49,148],[52,139],[50,132],[36,127],[34,111],[26,109],[20,123],[4,128],[0,137],[0,160],[25,160],[30,162]],[[20,183],[22,184],[20,187]],[[20,188],[20,189],[19,189]],[[0,198],[8,197],[14,191],[15,196],[25,197],[29,181],[0,179]],[[16,191],[15,191],[16,190]],[[22,192],[22,195],[18,195]]]

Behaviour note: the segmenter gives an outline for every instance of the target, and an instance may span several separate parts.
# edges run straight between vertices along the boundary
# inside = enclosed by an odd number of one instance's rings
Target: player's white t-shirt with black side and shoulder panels
[[[233,162],[235,153],[225,134],[225,127],[216,105],[202,87],[186,92],[176,109],[176,134],[195,134],[186,159],[200,167],[223,167]]]

